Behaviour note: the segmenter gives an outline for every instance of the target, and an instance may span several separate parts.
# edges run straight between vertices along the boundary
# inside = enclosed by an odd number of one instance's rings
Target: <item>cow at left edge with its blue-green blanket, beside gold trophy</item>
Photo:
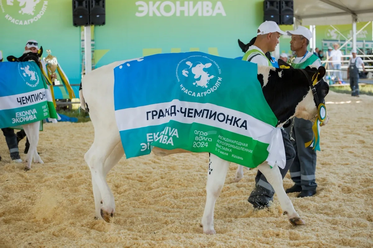
[[[43,53],[25,51],[19,58],[8,56],[9,62],[0,63],[0,128],[22,126],[30,143],[25,171],[31,162],[43,164],[37,152],[40,121],[57,118],[50,91],[40,72]],[[57,121],[56,121],[57,122]]]

